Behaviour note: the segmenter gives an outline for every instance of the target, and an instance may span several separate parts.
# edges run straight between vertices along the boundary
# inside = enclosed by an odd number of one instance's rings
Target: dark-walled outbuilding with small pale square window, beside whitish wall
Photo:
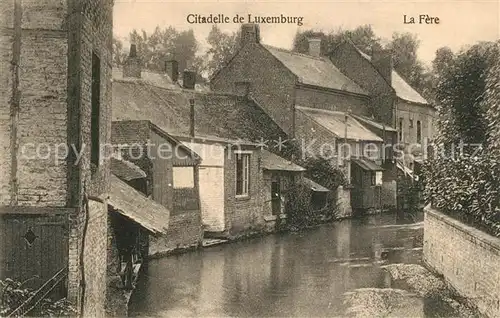
[[[119,84],[114,85],[115,91],[120,90]],[[123,99],[113,98],[113,101],[113,112],[126,108],[116,104]],[[122,112],[117,117],[126,116]],[[200,245],[203,237],[197,182],[200,158],[148,120],[113,121],[112,141],[123,157],[146,174],[146,178],[136,179],[135,188],[169,211],[162,218],[168,228],[166,235],[151,237],[149,255]]]

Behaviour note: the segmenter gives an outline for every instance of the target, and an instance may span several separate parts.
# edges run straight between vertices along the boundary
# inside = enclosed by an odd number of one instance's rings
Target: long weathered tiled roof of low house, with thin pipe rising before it
[[[189,98],[196,99],[195,135],[259,141],[285,137],[251,100],[224,94],[166,89],[141,80],[113,82],[113,121],[149,120],[163,131],[188,136]],[[285,138],[286,139],[286,138]]]

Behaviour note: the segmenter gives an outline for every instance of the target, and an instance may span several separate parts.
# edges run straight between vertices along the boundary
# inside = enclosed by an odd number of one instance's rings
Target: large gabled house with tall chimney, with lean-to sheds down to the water
[[[248,92],[288,136],[307,145],[303,149],[306,155],[331,158],[343,168],[349,183],[352,180],[351,158],[370,160],[364,145],[372,144],[372,148],[378,149],[375,164],[386,165],[382,169],[384,184],[387,185],[385,189],[394,193],[384,196],[387,200],[384,205],[394,206],[395,178],[390,173],[393,169],[389,160],[391,153],[381,151],[388,136],[377,136],[369,129],[363,129],[364,134],[354,139],[346,138],[346,134],[351,134],[351,127],[363,126],[353,115],[371,118],[374,113],[389,110],[378,107],[368,90],[346,76],[331,60],[320,56],[320,44],[318,39],[311,39],[309,54],[274,48],[261,44],[258,25],[244,24],[240,49],[212,77],[211,88],[223,93]],[[331,120],[307,115],[318,110],[329,114]],[[382,121],[381,125],[390,124]],[[343,148],[348,147],[351,151],[340,149],[344,143],[348,146]],[[385,173],[386,170],[389,173]],[[341,187],[338,191],[339,202],[347,203],[341,207],[344,215],[351,213],[348,204],[351,186]]]

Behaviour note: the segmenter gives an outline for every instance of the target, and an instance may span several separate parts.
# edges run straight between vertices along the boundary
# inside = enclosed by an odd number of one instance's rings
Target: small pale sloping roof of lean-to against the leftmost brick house
[[[108,204],[153,234],[165,234],[170,211],[111,174]]]

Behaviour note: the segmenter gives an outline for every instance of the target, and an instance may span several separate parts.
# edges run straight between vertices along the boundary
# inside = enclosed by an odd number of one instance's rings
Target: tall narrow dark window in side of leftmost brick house
[[[92,87],[90,114],[90,164],[93,172],[99,166],[99,138],[100,138],[100,113],[101,113],[101,61],[99,57],[92,54]]]

